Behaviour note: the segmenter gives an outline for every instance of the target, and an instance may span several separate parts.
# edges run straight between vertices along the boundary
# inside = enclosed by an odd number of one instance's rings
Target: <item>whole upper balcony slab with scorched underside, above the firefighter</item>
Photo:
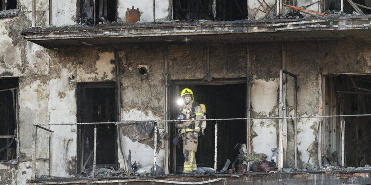
[[[29,28],[28,41],[46,48],[116,44],[252,43],[371,38],[371,16],[239,21],[171,21]]]

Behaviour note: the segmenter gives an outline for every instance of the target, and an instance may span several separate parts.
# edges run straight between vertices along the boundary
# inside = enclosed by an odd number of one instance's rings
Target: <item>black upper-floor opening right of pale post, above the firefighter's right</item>
[[[216,0],[216,19],[218,21],[247,19],[247,0]]]

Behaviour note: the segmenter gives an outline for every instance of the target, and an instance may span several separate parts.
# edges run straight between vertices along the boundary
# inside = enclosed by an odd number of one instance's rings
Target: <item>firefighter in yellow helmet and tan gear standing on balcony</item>
[[[194,101],[192,90],[185,88],[181,92],[184,106],[181,107],[178,120],[198,120],[204,118],[200,104]],[[179,136],[183,140],[184,165],[183,172],[190,173],[197,170],[195,153],[197,152],[198,137],[200,130],[206,128],[206,121],[183,121],[178,122],[176,127],[180,131]]]

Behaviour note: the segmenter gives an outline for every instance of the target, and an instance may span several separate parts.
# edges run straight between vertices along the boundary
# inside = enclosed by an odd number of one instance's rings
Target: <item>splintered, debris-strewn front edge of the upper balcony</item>
[[[285,31],[318,31],[369,29],[371,16],[338,17],[332,19],[285,19],[263,21],[224,21],[164,24],[134,24],[111,26],[78,26],[65,28],[30,28],[22,31],[27,40],[150,37],[181,35],[212,35],[233,33],[271,33]],[[269,24],[267,24],[269,23]],[[336,24],[337,23],[337,24]],[[360,24],[361,23],[361,24]],[[298,25],[298,26],[293,26]]]

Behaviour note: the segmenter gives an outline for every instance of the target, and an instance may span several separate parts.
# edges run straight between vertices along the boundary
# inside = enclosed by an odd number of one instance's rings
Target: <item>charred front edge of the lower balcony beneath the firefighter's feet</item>
[[[248,174],[211,174],[211,175],[199,175],[199,176],[189,176],[189,175],[175,175],[175,176],[153,176],[145,178],[133,178],[133,177],[122,177],[122,178],[84,178],[84,179],[34,179],[31,180],[28,185],[56,185],[56,184],[82,184],[82,183],[142,183],[142,182],[156,182],[156,183],[173,183],[173,184],[189,184],[198,183],[200,181],[213,181],[217,182],[222,180],[221,183],[240,183],[245,184],[246,178],[250,178],[250,181],[264,181],[273,183],[276,181],[284,183],[292,181],[299,181],[301,183],[312,183],[318,180],[324,180],[330,184],[336,184],[333,180],[342,182],[343,184],[348,184],[351,181],[353,183],[371,183],[369,175],[371,170],[356,170],[356,171],[308,171],[308,172],[276,172],[276,173],[248,173]],[[284,175],[284,176],[282,176]],[[302,176],[307,177],[306,180],[302,180]],[[313,177],[313,178],[308,178]],[[178,182],[178,183],[176,183]],[[224,182],[224,183],[223,183]],[[327,183],[327,184],[328,184]],[[326,184],[326,183],[324,183]]]

